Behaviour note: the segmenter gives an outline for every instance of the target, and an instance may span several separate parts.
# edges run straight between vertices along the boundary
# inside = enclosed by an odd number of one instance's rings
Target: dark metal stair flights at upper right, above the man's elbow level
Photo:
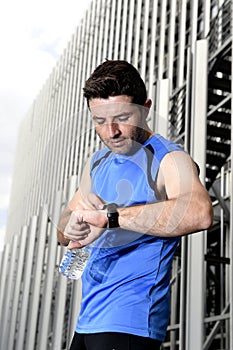
[[[230,156],[231,2],[211,24],[207,114],[206,186],[209,189]]]

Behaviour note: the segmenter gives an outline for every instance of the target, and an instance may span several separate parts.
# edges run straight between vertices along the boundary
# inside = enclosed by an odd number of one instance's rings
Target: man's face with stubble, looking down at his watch
[[[89,101],[94,126],[104,144],[114,153],[128,153],[148,138],[146,117],[151,105],[131,103],[126,95]]]

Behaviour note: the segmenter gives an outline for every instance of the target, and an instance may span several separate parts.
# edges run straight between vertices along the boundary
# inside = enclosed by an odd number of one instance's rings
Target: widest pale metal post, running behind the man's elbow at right
[[[193,65],[191,156],[200,166],[200,178],[205,181],[207,113],[207,40],[196,42]],[[197,128],[198,126],[198,128]],[[204,246],[203,232],[188,237],[187,332],[186,349],[201,350],[204,334]]]

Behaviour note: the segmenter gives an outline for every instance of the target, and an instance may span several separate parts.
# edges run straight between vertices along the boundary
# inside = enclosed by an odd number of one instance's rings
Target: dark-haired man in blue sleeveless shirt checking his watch
[[[101,64],[84,87],[105,148],[87,163],[58,240],[92,246],[71,350],[159,349],[180,236],[207,229],[212,205],[197,167],[147,124],[151,100],[125,61]]]

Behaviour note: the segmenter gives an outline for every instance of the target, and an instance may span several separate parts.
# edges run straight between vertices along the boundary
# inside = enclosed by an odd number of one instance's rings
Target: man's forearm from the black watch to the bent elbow
[[[209,197],[195,193],[179,199],[119,209],[120,227],[161,237],[175,237],[207,229],[212,224]]]

